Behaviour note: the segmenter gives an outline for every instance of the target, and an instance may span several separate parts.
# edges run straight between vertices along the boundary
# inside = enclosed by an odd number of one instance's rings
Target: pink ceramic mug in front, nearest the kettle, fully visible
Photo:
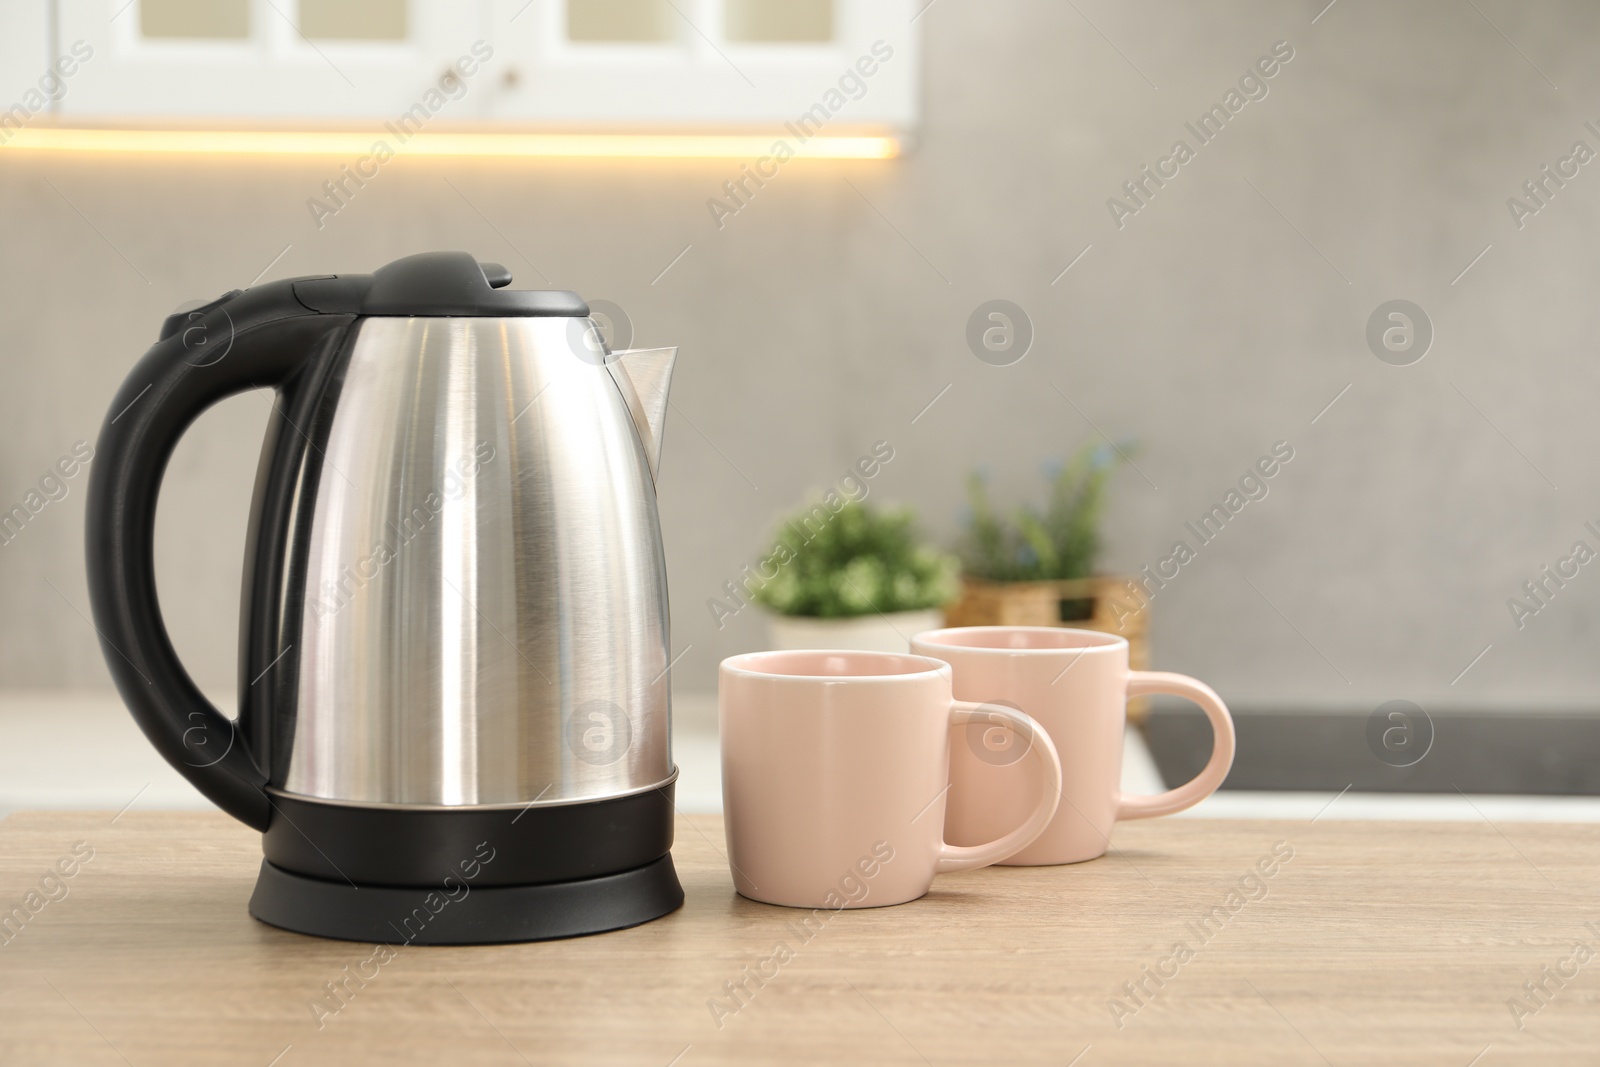
[[[787,907],[915,901],[933,875],[986,867],[1038,837],[1061,760],[1038,723],[950,697],[950,667],[891,653],[782,651],[722,661],[722,803],[733,885]],[[974,715],[1040,733],[1032,793],[984,843],[944,840],[950,728]]]

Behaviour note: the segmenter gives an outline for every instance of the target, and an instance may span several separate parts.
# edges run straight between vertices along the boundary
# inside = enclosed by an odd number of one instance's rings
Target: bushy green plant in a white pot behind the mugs
[[[918,539],[909,509],[818,504],[778,528],[770,558],[778,574],[752,600],[773,648],[904,653],[962,592],[960,561]]]

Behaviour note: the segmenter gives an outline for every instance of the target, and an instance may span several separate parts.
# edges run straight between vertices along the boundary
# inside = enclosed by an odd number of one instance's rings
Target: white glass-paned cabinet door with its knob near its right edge
[[[61,102],[74,125],[475,120],[498,62],[488,0],[56,5],[59,40],[94,50]]]

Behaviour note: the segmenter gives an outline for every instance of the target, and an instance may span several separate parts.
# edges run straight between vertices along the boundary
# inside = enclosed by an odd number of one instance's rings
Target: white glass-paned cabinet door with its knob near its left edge
[[[490,118],[774,128],[810,114],[838,133],[915,125],[910,0],[493,3],[510,85]]]

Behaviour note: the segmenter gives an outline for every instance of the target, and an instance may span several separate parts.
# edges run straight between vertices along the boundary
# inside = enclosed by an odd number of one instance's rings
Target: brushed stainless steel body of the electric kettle
[[[653,443],[589,336],[555,317],[360,323],[302,493],[275,787],[522,806],[672,776]]]

